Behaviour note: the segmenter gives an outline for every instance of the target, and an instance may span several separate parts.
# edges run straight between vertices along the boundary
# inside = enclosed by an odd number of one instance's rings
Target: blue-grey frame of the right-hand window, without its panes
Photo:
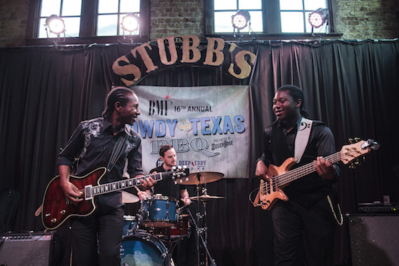
[[[311,33],[282,33],[281,32],[281,17],[280,17],[280,5],[279,0],[261,0],[262,1],[262,16],[263,16],[263,32],[253,33],[235,33],[236,36],[243,38],[267,38],[267,39],[281,39],[283,38],[309,38],[312,36]],[[334,31],[333,23],[333,1],[328,0],[327,6],[330,10],[330,19],[328,24],[330,25],[330,32],[328,34],[317,34],[317,36],[340,36]],[[276,12],[278,11],[278,12]],[[205,35],[206,36],[223,36],[223,38],[234,37],[233,33],[215,33],[214,32],[214,0],[205,0],[204,8],[204,21],[205,21]]]

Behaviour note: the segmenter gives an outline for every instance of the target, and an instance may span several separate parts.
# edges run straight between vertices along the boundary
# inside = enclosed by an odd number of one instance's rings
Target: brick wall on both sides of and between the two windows
[[[0,47],[25,45],[30,1],[0,0]],[[398,0],[332,0],[332,6],[335,31],[342,38],[399,36]],[[204,0],[152,0],[150,32],[151,40],[204,36]]]

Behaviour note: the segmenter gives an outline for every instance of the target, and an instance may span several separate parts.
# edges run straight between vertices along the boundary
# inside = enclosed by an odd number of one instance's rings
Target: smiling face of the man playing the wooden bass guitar
[[[296,123],[300,117],[299,106],[301,104],[302,100],[297,99],[295,101],[288,90],[279,90],[274,94],[273,112],[276,118],[283,121],[283,123]]]

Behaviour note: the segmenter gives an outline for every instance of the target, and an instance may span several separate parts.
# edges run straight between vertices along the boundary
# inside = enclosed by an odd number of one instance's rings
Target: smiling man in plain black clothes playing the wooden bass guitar
[[[283,165],[288,158],[295,157],[297,166],[313,161],[316,169],[282,190],[276,188],[280,200],[262,202],[269,204],[262,208],[272,210],[276,266],[332,265],[336,221],[331,198],[337,197],[333,184],[339,167],[324,158],[335,153],[335,140],[324,123],[306,119],[303,106],[299,87],[283,85],[277,90],[273,99],[277,120],[264,132],[264,150],[255,169],[255,176],[268,183],[273,182],[271,166]]]

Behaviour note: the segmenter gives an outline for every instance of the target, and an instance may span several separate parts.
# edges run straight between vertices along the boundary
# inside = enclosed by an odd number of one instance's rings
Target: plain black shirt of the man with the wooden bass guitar
[[[272,164],[279,167],[286,159],[294,157],[296,134],[297,126],[287,132],[281,125],[281,121],[276,120],[264,132],[264,153],[258,160],[262,160],[267,166]],[[321,121],[314,120],[302,159],[293,168],[306,165],[316,160],[317,156],[326,157],[332,153],[335,153],[335,140],[330,128]],[[291,182],[283,188],[283,191],[289,200],[295,200],[304,207],[310,207],[333,189],[332,184],[339,176],[339,167],[336,166],[336,176],[331,180],[323,179],[314,172]]]

